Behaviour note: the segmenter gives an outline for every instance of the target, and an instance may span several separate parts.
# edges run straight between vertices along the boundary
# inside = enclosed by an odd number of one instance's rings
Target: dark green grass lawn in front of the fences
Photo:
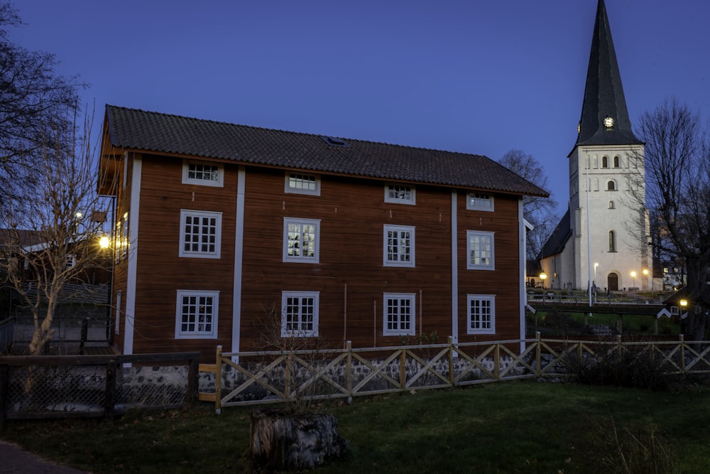
[[[710,387],[503,382],[323,408],[349,451],[314,473],[710,472]],[[251,409],[9,421],[1,436],[97,474],[242,473]]]

